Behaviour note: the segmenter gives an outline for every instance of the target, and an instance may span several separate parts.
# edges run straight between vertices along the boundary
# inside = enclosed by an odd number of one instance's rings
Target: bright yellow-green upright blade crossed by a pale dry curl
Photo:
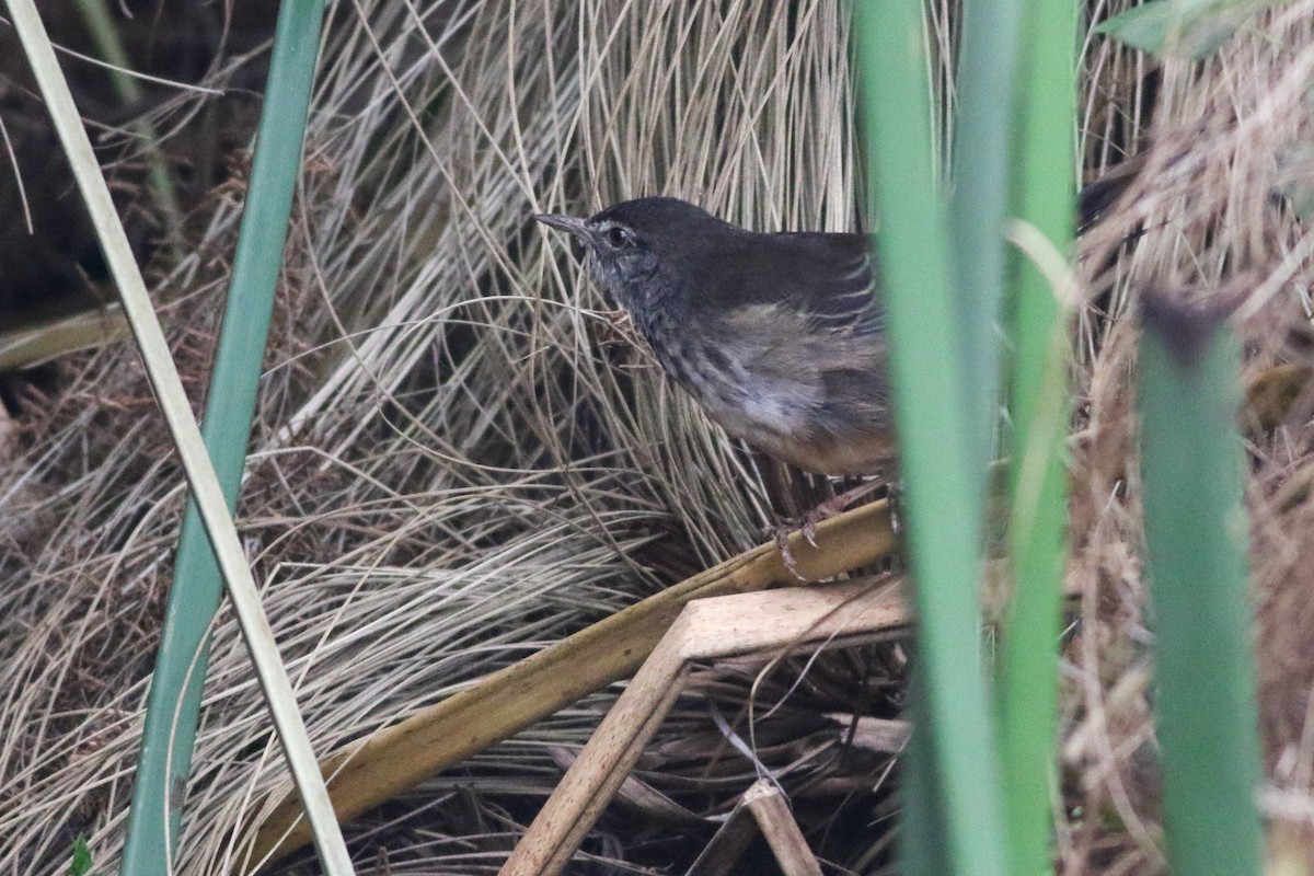
[[[1076,4],[1041,3],[1025,26],[1018,106],[1021,221],[1068,253],[1074,238]],[[1051,278],[1018,259],[1013,305],[1008,552],[1013,592],[999,658],[1000,766],[1009,872],[1053,872],[1058,655],[1067,529],[1067,313]]]

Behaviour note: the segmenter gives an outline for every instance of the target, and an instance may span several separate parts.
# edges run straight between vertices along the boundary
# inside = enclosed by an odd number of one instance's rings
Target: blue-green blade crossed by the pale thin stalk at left
[[[231,514],[246,462],[256,387],[273,313],[292,194],[301,165],[323,0],[288,0],[279,14],[258,148],[233,282],[206,394],[202,437]],[[125,873],[171,872],[183,793],[222,577],[197,508],[188,506],[142,737],[124,848]]]

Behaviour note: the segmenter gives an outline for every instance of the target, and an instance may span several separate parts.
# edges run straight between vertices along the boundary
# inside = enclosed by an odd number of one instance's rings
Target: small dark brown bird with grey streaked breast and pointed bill
[[[594,284],[727,432],[819,474],[894,458],[867,236],[745,231],[657,197],[533,218],[574,235]]]

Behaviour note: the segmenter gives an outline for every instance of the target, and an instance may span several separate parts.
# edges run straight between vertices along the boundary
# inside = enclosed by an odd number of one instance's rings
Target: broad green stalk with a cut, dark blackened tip
[[[1146,296],[1141,470],[1164,841],[1176,876],[1263,872],[1240,349],[1217,311]]]

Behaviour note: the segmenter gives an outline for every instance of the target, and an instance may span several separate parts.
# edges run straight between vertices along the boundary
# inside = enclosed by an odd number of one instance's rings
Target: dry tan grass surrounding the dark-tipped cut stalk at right
[[[1125,5],[1108,4],[1100,17]],[[1314,134],[1314,108],[1303,97],[1314,60],[1311,11],[1302,0],[1255,14],[1202,62],[1158,62],[1091,38],[1088,165],[1134,152],[1141,168],[1105,222],[1083,239],[1092,306],[1081,314],[1084,407],[1074,441],[1070,569],[1083,607],[1068,651],[1063,760],[1070,801],[1099,816],[1059,831],[1064,873],[1163,868],[1150,691],[1158,621],[1144,615],[1129,407],[1134,336],[1122,319],[1135,289],[1189,288],[1236,309],[1252,386],[1243,422],[1267,768],[1285,791],[1310,795],[1309,771],[1296,767],[1314,750],[1303,711],[1314,683],[1310,508],[1305,500],[1285,504],[1293,494],[1284,487],[1298,479],[1314,449],[1300,380],[1309,361],[1314,272],[1293,197],[1314,179],[1300,158]],[[1277,370],[1259,377],[1273,365]]]

